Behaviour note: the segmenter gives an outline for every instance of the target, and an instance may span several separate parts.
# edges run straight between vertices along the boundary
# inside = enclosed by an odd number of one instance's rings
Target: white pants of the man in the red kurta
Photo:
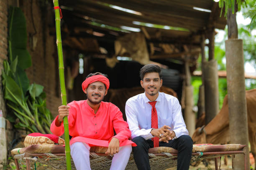
[[[119,148],[112,159],[110,170],[124,170],[132,151],[131,145]],[[76,142],[70,146],[70,154],[77,170],[91,170],[90,167],[90,146],[87,143]]]

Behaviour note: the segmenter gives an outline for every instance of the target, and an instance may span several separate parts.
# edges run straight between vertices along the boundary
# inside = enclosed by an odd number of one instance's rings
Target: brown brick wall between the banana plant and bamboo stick
[[[27,50],[32,58],[32,66],[26,70],[31,83],[44,86],[46,92],[46,106],[55,117],[57,108],[61,105],[58,55],[56,52],[56,37],[49,35],[49,24],[55,22],[54,11],[51,4],[39,4],[39,1],[23,0],[20,8],[27,22]],[[34,23],[34,25],[33,25]],[[37,41],[32,47],[32,35]]]

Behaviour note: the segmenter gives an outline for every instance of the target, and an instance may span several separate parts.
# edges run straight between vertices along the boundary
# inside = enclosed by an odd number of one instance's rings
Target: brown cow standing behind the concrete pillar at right
[[[256,89],[246,91],[246,102],[251,153],[256,160]],[[218,115],[205,127],[197,128],[192,139],[194,143],[225,144],[230,142],[227,95]]]

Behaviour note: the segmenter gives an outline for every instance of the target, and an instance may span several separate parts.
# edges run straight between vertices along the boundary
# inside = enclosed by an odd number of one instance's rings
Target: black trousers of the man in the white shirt
[[[151,139],[145,140],[137,136],[132,140],[137,144],[133,147],[133,157],[138,170],[150,170],[148,149],[154,147]],[[177,139],[169,140],[169,143],[159,142],[159,146],[170,147],[178,150],[177,170],[188,170],[192,155],[193,141],[189,135],[182,135]]]

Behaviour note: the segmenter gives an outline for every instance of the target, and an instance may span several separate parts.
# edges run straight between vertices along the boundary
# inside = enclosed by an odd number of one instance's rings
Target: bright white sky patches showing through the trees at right
[[[240,11],[236,14],[236,22],[237,22],[238,25],[239,24],[248,25],[248,24],[251,23],[251,19],[250,18],[244,18],[241,11]],[[227,25],[226,25],[226,27],[227,27]],[[218,32],[218,34],[215,36],[215,42],[222,42],[223,38],[224,38],[224,35],[225,35],[225,31],[224,30],[218,30],[218,29],[216,29],[216,31]],[[256,30],[252,30],[251,35],[256,35]],[[225,58],[223,59],[223,62],[224,63],[226,62]],[[245,68],[246,73],[256,75],[255,68],[249,62],[245,62],[244,68]]]

